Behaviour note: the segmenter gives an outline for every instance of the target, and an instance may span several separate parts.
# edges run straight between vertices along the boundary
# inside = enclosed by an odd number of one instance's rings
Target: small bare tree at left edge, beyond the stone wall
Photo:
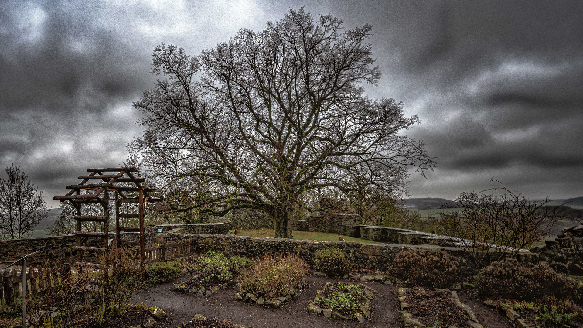
[[[4,168],[8,177],[0,180],[0,233],[3,238],[23,238],[47,217],[43,193],[34,188],[18,166]]]

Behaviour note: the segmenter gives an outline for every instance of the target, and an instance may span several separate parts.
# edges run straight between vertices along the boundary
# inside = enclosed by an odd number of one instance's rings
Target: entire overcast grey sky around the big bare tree
[[[419,115],[407,133],[438,163],[412,175],[412,197],[491,177],[531,198],[583,196],[581,1],[2,1],[0,164],[57,206],[87,168],[127,158],[154,46],[196,55],[302,5],[374,25],[382,79],[367,91]]]

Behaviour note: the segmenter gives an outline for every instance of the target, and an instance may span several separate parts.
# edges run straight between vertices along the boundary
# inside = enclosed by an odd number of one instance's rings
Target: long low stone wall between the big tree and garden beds
[[[162,237],[162,236],[161,236]],[[317,240],[297,240],[284,238],[249,237],[235,235],[204,235],[189,233],[164,233],[163,240],[196,239],[197,252],[208,250],[226,251],[243,256],[256,257],[264,253],[300,254],[305,260],[312,261],[314,253],[325,247],[337,247],[349,256],[353,264],[385,269],[391,266],[396,253],[417,248],[440,249],[458,256],[462,266],[475,268],[472,259],[458,247],[441,247],[437,245],[398,245],[385,243],[360,242],[320,242]],[[161,240],[161,241],[163,241]],[[485,253],[484,253],[485,254]],[[495,254],[491,254],[494,258]],[[537,254],[518,254],[519,261],[539,261]]]

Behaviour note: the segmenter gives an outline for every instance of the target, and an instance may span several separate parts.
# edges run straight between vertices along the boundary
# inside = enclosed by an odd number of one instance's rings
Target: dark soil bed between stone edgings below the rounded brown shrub
[[[415,287],[410,288],[405,296],[405,302],[410,306],[407,312],[427,327],[469,327],[468,314],[455,305],[449,293],[438,294],[431,289]]]

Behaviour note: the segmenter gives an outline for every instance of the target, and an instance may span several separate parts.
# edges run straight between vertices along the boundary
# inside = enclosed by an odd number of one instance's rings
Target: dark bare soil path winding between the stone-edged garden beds
[[[166,319],[156,324],[156,328],[182,327],[192,316],[200,313],[211,319],[230,319],[236,324],[252,326],[253,328],[278,327],[398,327],[401,326],[401,314],[396,301],[396,289],[399,285],[385,285],[379,282],[363,282],[377,292],[371,301],[371,320],[366,323],[327,319],[320,315],[308,313],[308,303],[316,296],[316,291],[322,289],[328,281],[353,282],[345,279],[320,278],[308,276],[307,284],[301,294],[285,302],[279,309],[266,308],[263,305],[234,301],[233,295],[239,291],[234,284],[226,290],[210,296],[198,297],[192,294],[182,294],[172,290],[172,285],[188,281],[189,275],[182,275],[176,281],[142,289],[134,303],[146,303],[147,306],[157,306],[167,313]],[[359,281],[360,282],[360,281]],[[129,324],[129,323],[128,323]],[[133,324],[136,326],[136,324]],[[112,326],[117,328],[118,326]],[[120,327],[120,328],[125,328]]]

